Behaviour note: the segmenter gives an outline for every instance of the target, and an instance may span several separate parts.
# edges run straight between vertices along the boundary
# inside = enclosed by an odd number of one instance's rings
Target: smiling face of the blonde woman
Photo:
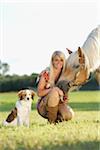
[[[55,69],[62,69],[63,67],[63,59],[61,57],[59,57],[58,55],[56,55],[54,58],[53,58],[53,66]]]

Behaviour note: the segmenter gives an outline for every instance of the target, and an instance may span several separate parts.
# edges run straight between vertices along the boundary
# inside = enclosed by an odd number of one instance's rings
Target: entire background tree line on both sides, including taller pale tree
[[[31,75],[7,75],[10,66],[0,61],[0,92],[19,91],[31,88],[36,90],[36,79],[38,74]],[[92,79],[78,90],[100,90],[100,68],[92,75]]]

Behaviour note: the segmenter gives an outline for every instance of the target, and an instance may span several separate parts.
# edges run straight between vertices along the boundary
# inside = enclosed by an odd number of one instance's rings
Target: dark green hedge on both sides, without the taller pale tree
[[[34,88],[36,90],[38,74],[33,73],[28,75],[0,75],[0,92],[18,91],[24,88]],[[99,90],[100,86],[96,82],[95,78],[92,78],[88,83],[83,85],[79,90]]]

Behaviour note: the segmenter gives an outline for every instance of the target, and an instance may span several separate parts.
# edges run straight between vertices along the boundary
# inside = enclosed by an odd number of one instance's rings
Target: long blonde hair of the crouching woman
[[[56,57],[56,56],[59,56],[62,60],[63,60],[63,68],[62,68],[62,71],[61,71],[61,74],[63,73],[63,71],[65,70],[65,62],[66,62],[66,59],[65,59],[65,55],[63,52],[61,51],[55,51],[53,54],[52,54],[52,57],[51,57],[51,63],[50,63],[50,85],[53,86],[54,85],[54,66],[53,66],[53,59]]]

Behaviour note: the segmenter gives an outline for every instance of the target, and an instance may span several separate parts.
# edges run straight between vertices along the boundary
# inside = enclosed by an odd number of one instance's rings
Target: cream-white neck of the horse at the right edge
[[[96,34],[96,35],[95,35]],[[91,33],[82,46],[89,63],[90,71],[93,72],[100,66],[100,38],[97,33]]]

